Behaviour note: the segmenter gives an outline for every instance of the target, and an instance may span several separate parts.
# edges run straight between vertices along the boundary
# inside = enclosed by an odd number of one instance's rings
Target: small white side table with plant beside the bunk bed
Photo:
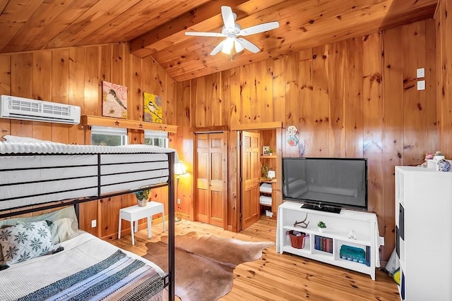
[[[135,239],[133,237],[133,233],[138,231],[138,220],[139,219],[148,219],[148,238],[151,237],[151,224],[153,221],[154,214],[162,214],[163,220],[163,232],[165,232],[165,212],[163,209],[163,204],[159,202],[148,202],[148,206],[139,207],[138,205],[126,207],[119,209],[119,229],[118,229],[118,238],[121,238],[121,220],[125,219],[126,221],[130,221],[130,231],[132,235],[132,245],[135,245]],[[133,226],[135,223],[135,226]]]

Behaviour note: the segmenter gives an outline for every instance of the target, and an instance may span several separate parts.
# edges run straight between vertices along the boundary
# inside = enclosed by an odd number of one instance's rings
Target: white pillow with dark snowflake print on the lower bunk
[[[24,262],[54,249],[54,242],[45,221],[18,223],[0,229],[0,245],[5,264]]]

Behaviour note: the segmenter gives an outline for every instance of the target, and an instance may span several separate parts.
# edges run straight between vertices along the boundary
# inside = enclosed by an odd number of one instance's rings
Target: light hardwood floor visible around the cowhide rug
[[[266,216],[261,216],[260,221],[241,233],[224,231],[206,223],[185,220],[176,223],[176,235],[196,231],[199,235],[212,234],[246,241],[275,242],[275,230],[276,221]],[[153,236],[148,240],[147,230],[138,231],[134,246],[130,235],[110,242],[142,256],[146,252],[146,242],[159,241],[161,235],[167,235],[162,233],[161,222],[153,224],[152,232]],[[220,300],[396,301],[400,297],[396,283],[383,271],[377,270],[376,281],[372,281],[369,275],[292,254],[276,253],[273,246],[264,250],[262,258],[256,262],[237,266],[234,287]]]

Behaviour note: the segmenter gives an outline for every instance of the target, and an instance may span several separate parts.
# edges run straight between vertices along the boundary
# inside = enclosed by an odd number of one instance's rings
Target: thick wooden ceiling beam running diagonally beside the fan
[[[235,7],[239,4],[243,4],[248,0],[230,0],[228,4]],[[136,51],[142,48],[152,47],[154,52],[158,51],[158,45],[160,41],[165,39],[172,39],[173,43],[185,41],[189,39],[189,36],[184,34],[187,28],[193,27],[194,25],[208,20],[209,23],[215,23],[215,27],[222,25],[221,18],[221,3],[217,1],[211,1],[207,4],[194,8],[188,13],[184,13],[182,16],[174,18],[171,22],[163,24],[155,30],[146,32],[144,35],[137,37],[131,41],[131,54],[136,54]],[[151,53],[152,54],[152,53]]]

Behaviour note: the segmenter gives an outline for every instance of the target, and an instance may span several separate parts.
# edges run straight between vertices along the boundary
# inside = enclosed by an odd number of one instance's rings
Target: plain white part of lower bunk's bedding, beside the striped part
[[[0,271],[0,300],[16,300],[35,290],[102,261],[119,248],[95,236],[81,232],[80,235],[61,242],[63,252],[29,259]],[[136,254],[122,250],[130,257],[140,259],[152,266],[160,276],[165,274],[159,266]]]

